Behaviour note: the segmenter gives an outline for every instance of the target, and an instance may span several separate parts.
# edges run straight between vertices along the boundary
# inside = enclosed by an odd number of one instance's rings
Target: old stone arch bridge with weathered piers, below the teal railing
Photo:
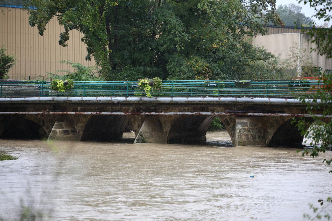
[[[129,122],[147,143],[196,143],[206,141],[218,117],[234,146],[301,146],[292,118],[313,121],[305,104],[281,98],[0,98],[0,104],[0,138],[17,139],[111,141]]]

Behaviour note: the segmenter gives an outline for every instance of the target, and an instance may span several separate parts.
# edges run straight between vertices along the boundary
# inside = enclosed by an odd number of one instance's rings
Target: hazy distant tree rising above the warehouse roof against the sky
[[[302,7],[295,4],[279,5],[277,13],[281,20],[288,26],[312,26],[313,20],[302,13]]]

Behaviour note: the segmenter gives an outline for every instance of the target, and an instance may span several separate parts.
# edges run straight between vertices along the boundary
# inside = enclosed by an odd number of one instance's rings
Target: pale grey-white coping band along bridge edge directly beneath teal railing
[[[269,104],[269,105],[305,105],[299,99],[291,98],[133,98],[133,97],[29,97],[0,98],[0,103],[159,103],[159,104]],[[306,99],[306,103],[319,104]]]

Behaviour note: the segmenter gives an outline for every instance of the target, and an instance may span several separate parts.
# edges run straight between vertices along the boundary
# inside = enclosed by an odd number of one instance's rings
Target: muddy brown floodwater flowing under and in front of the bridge
[[[331,166],[292,148],[0,140],[0,220],[302,220],[332,196]],[[250,175],[255,175],[250,178]],[[23,209],[25,208],[25,209]],[[332,213],[332,208],[325,212]],[[324,213],[325,214],[325,213]]]

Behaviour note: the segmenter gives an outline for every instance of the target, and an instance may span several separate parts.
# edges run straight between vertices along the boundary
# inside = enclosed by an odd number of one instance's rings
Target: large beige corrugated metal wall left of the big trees
[[[18,58],[17,64],[9,71],[9,79],[37,79],[38,75],[47,77],[45,72],[72,70],[70,65],[60,60],[69,60],[86,66],[94,66],[95,61],[85,61],[86,45],[81,41],[83,35],[74,30],[70,32],[67,47],[59,45],[59,34],[63,31],[56,18],[47,25],[43,36],[37,27],[29,25],[29,15],[21,8],[0,7],[0,44]]]

